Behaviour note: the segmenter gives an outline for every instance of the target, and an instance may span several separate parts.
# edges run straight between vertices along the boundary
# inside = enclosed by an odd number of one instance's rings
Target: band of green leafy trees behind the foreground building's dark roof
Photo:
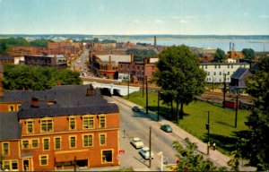
[[[57,70],[55,67],[27,65],[4,65],[4,90],[46,90],[56,86],[80,84],[79,73],[69,69]]]

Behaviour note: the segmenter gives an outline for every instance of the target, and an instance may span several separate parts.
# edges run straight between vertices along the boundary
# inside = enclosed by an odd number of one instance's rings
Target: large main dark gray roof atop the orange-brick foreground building
[[[61,85],[50,90],[4,92],[1,102],[22,102],[20,119],[45,116],[70,116],[83,114],[117,113],[117,104],[103,99],[100,90],[87,96],[89,85]],[[39,107],[31,107],[31,99],[39,99]],[[48,105],[47,101],[55,103]]]

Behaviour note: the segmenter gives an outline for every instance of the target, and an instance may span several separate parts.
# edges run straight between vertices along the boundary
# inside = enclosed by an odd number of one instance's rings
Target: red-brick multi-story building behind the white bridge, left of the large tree
[[[146,76],[148,81],[152,80],[152,75],[158,69],[156,62],[158,58],[152,57],[150,59],[144,59],[143,62],[135,62],[132,58],[131,62],[119,62],[118,63],[118,80],[130,81],[130,82],[143,82],[143,78]]]

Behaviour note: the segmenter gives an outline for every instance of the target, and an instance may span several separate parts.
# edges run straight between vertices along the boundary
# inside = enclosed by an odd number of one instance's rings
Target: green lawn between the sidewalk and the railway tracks
[[[124,99],[127,99],[127,97],[124,97]],[[130,94],[129,100],[145,107],[145,93],[144,97],[142,97],[142,91]],[[162,101],[160,102],[160,106],[161,115],[167,116],[169,114],[169,107],[162,105]],[[157,107],[157,93],[149,92],[150,110],[157,112]],[[176,105],[174,105],[174,107],[176,107]],[[207,124],[208,111],[210,111],[211,142],[216,142],[217,148],[223,153],[229,153],[231,150],[235,149],[235,133],[248,129],[244,122],[247,121],[247,116],[249,116],[250,112],[239,109],[238,126],[235,128],[234,110],[197,100],[190,103],[188,106],[184,106],[185,116],[182,120],[179,120],[178,125],[188,133],[192,133],[195,137],[206,142],[207,130],[205,129],[205,124]]]

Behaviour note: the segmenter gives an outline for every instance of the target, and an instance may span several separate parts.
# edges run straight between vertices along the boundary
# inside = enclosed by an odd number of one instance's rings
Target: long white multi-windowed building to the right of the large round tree
[[[238,70],[239,67],[249,69],[247,63],[201,63],[199,65],[206,73],[205,82],[221,83],[224,81],[226,74],[226,82],[230,82],[230,76]]]

